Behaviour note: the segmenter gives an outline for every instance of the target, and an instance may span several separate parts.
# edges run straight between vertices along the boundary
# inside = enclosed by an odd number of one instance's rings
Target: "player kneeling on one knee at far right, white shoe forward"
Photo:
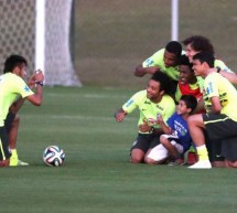
[[[193,56],[195,75],[205,78],[203,97],[207,113],[192,115],[187,119],[190,134],[198,155],[198,161],[191,166],[191,169],[212,168],[204,130],[211,142],[225,140],[227,149],[228,141],[233,142],[231,139],[237,137],[237,90],[225,77],[212,68],[214,61],[214,55],[206,52]],[[228,153],[224,157],[227,160],[229,158]],[[237,160],[237,158],[231,160]]]

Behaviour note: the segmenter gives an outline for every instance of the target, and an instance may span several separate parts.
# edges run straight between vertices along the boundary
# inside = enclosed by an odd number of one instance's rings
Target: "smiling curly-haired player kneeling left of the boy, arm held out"
[[[136,108],[140,110],[139,132],[131,147],[130,161],[132,163],[143,162],[144,156],[159,143],[159,136],[163,130],[157,124],[157,117],[162,115],[166,121],[175,111],[175,103],[169,95],[169,89],[168,75],[157,72],[150,78],[147,89],[136,93],[115,115],[116,120],[120,123]]]

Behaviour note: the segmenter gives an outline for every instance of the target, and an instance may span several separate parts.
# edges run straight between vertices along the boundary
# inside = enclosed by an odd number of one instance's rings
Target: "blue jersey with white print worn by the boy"
[[[168,125],[172,129],[173,135],[179,138],[179,143],[183,146],[184,151],[191,147],[191,136],[186,120],[184,120],[180,115],[174,113],[169,119]]]

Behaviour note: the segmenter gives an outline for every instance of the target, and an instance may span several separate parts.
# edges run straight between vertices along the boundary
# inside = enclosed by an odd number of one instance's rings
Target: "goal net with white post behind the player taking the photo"
[[[80,86],[71,54],[73,0],[0,0],[0,66],[10,54],[41,68],[46,85]]]

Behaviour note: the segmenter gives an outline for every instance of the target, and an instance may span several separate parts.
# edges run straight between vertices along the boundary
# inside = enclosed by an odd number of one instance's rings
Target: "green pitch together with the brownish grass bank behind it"
[[[234,169],[129,163],[137,113],[114,113],[147,77],[134,66],[170,41],[168,0],[76,0],[75,66],[84,86],[46,87],[40,108],[25,103],[18,140],[30,167],[0,170],[0,213],[236,213]],[[236,66],[236,0],[180,0],[180,40],[208,36]],[[49,145],[66,152],[43,163]]]

